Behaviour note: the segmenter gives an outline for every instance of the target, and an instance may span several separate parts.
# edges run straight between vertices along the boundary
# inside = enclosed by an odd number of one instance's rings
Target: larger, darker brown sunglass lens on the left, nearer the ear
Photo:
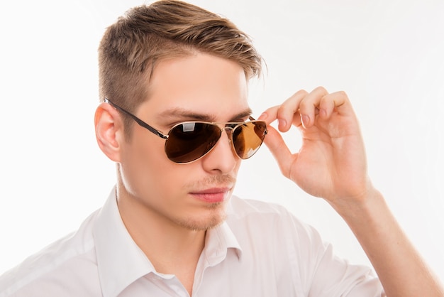
[[[190,122],[174,126],[165,141],[167,157],[176,163],[188,163],[208,153],[221,138],[221,129],[213,124]]]

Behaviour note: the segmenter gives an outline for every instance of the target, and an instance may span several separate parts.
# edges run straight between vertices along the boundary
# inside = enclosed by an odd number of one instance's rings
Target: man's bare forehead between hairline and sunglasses
[[[251,114],[243,68],[202,53],[160,61],[147,97],[145,112],[163,122],[241,121]]]

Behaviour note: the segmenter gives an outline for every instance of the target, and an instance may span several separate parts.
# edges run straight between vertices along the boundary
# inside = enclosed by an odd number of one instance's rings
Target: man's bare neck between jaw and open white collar
[[[118,194],[123,224],[157,272],[174,274],[191,295],[194,271],[204,249],[205,230],[191,230]]]

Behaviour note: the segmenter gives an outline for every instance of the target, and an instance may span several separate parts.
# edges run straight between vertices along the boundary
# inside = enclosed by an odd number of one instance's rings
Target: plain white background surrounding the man
[[[142,1],[1,1],[0,274],[71,232],[115,180],[96,146],[96,49]],[[300,89],[345,90],[360,118],[369,171],[406,234],[444,279],[444,1],[194,0],[230,18],[267,63],[250,89],[256,116]],[[297,150],[296,130],[285,135]],[[368,264],[326,202],[280,175],[263,146],[235,193],[286,205]],[[384,246],[384,242],[381,242]]]

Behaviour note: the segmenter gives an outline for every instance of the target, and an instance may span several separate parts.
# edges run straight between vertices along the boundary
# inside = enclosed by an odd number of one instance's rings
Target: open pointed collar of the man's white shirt
[[[227,212],[231,212],[228,202]],[[99,212],[93,229],[99,279],[104,297],[118,296],[127,286],[150,272],[156,273],[148,257],[128,233],[116,200],[114,187]],[[206,232],[203,251],[204,266],[215,266],[226,258],[228,249],[235,249],[241,259],[242,249],[230,227],[223,222]],[[156,273],[157,274],[157,273]]]

